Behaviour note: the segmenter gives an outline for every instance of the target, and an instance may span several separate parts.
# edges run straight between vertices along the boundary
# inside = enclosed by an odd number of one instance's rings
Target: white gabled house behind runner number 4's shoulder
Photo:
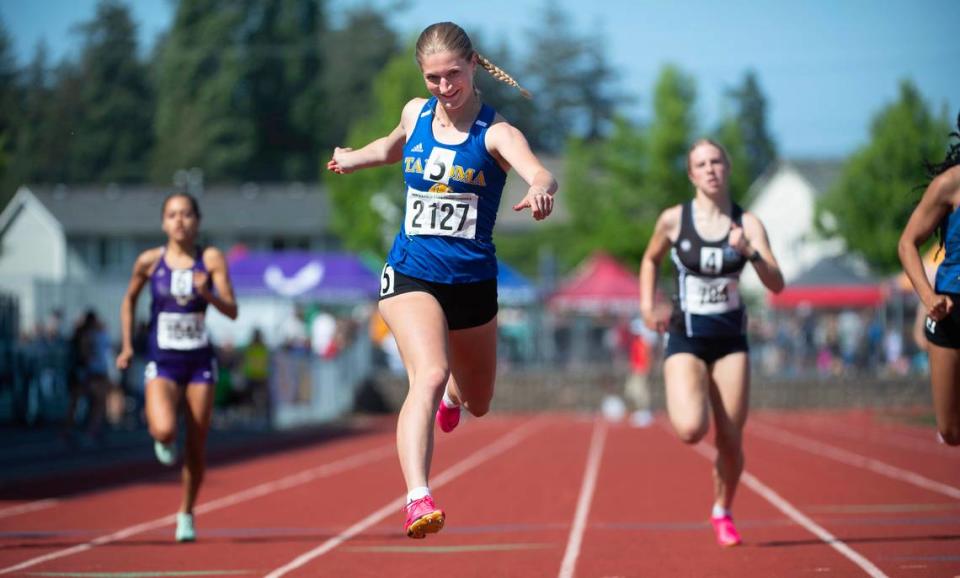
[[[833,186],[842,166],[839,160],[780,160],[750,186],[748,210],[766,228],[788,284],[821,259],[845,250],[842,240],[820,237],[814,225],[816,200]],[[763,291],[752,267],[745,269],[742,286],[746,292]]]

